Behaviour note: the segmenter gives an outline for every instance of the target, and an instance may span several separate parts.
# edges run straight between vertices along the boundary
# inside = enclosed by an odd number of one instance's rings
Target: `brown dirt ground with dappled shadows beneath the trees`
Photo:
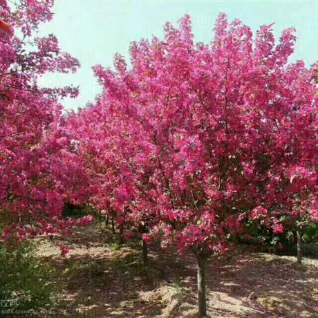
[[[122,246],[104,223],[72,236],[40,238],[39,256],[57,268],[63,287],[52,317],[197,317],[196,260],[191,254],[149,247],[142,266],[138,242]],[[68,245],[65,258],[59,245]],[[207,273],[211,317],[318,317],[318,246],[297,265],[294,256],[250,247],[212,259]]]

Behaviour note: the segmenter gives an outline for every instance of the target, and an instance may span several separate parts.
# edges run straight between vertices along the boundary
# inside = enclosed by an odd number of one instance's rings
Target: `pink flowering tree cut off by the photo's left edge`
[[[53,14],[53,0],[0,0],[0,232],[1,240],[67,230],[64,200],[86,196],[81,162],[65,130],[58,97],[72,87],[39,88],[46,72],[75,72],[54,35],[36,37]]]

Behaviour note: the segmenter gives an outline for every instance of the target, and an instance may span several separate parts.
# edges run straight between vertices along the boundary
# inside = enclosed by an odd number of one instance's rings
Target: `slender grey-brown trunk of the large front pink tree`
[[[207,256],[196,255],[198,259],[198,310],[199,317],[207,317],[207,295],[206,295],[206,280],[205,273],[207,267]]]

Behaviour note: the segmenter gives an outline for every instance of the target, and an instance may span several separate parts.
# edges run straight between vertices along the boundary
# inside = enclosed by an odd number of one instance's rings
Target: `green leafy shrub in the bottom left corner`
[[[46,317],[57,300],[56,272],[35,253],[30,242],[0,246],[1,317]]]

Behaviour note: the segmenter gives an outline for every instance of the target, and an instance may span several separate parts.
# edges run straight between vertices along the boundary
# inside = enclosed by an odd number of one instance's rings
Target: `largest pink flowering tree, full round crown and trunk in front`
[[[195,44],[186,15],[163,40],[133,42],[130,68],[120,55],[114,71],[94,68],[104,90],[84,126],[110,162],[100,163],[102,182],[116,180],[120,213],[149,214],[147,241],[194,252],[200,317],[207,260],[231,247],[245,219],[281,229],[281,216],[297,218],[306,203],[301,213],[317,221],[317,66],[288,64],[294,41],[290,28],[275,45],[272,25],[253,39],[221,14],[211,43]]]

